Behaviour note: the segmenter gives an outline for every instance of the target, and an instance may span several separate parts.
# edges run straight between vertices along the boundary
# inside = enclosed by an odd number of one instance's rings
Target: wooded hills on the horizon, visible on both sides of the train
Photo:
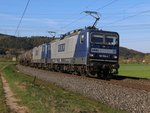
[[[18,51],[26,51],[43,43],[49,43],[53,38],[44,36],[33,37],[14,37],[10,35],[0,34],[0,54],[10,51],[15,54]],[[150,63],[150,54],[145,54],[125,47],[120,47],[121,63]]]

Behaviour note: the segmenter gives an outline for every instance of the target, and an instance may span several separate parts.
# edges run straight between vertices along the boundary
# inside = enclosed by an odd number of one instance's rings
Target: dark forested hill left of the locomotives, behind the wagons
[[[0,34],[0,48],[29,50],[43,43],[48,43],[52,38],[44,36],[14,37]]]

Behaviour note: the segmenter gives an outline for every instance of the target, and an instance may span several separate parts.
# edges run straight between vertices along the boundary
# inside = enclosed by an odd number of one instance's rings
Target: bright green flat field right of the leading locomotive
[[[130,77],[150,78],[150,65],[148,64],[121,64],[119,75]]]

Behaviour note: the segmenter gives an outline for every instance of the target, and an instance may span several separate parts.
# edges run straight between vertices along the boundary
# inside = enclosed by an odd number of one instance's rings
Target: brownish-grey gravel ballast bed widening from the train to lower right
[[[115,108],[132,113],[150,113],[150,90],[148,90],[150,89],[150,81],[148,80],[132,80],[128,78],[105,81],[21,65],[17,65],[17,67],[26,74],[37,76],[42,80],[94,98]]]

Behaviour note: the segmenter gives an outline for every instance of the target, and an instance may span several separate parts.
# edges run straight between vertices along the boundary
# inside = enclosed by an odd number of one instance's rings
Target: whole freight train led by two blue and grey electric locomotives
[[[22,65],[108,78],[118,73],[119,34],[95,26],[68,32],[19,56]]]

